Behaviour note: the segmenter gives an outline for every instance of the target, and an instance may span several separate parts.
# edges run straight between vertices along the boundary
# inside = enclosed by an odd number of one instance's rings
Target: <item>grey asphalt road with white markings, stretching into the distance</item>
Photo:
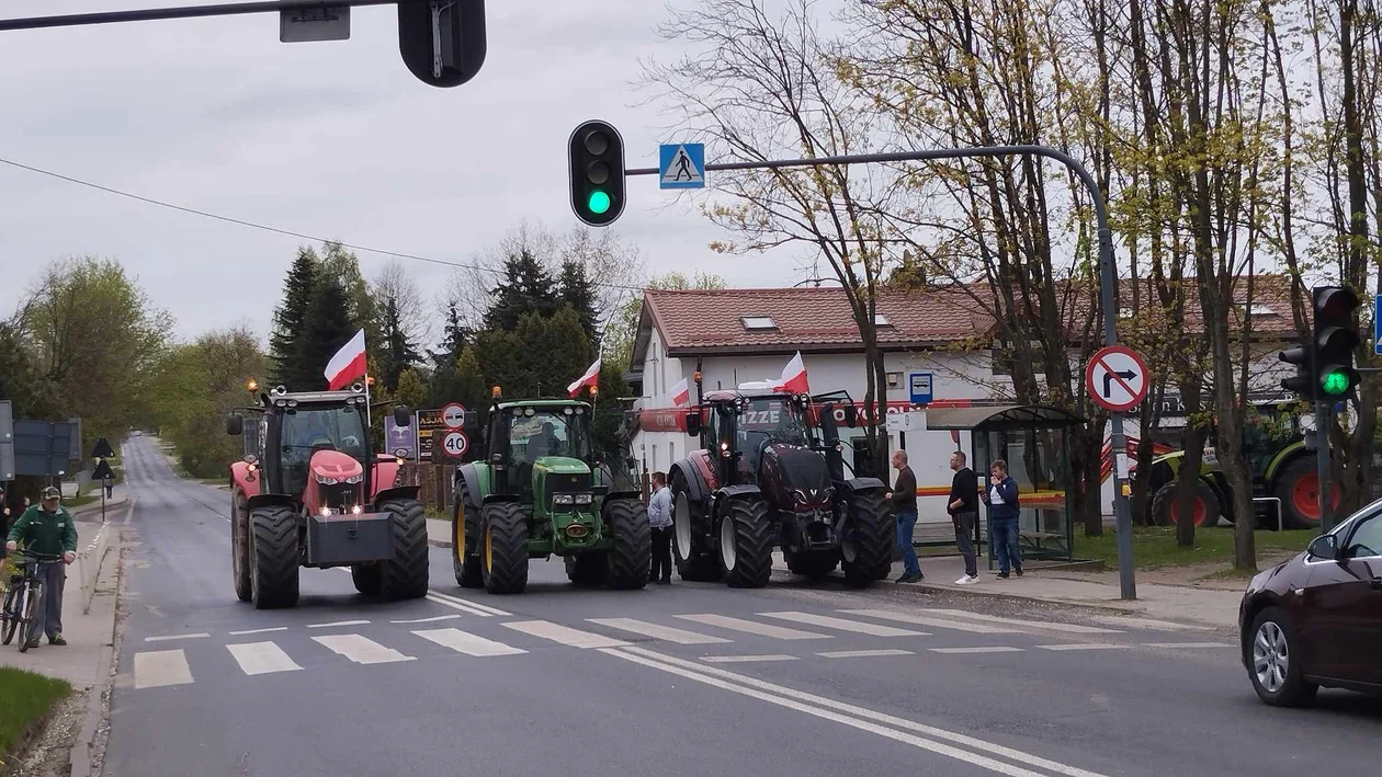
[[[439,548],[428,599],[303,570],[299,607],[256,611],[231,587],[228,495],[148,437],[124,464],[140,544],[109,777],[1376,769],[1382,704],[1270,709],[1233,635],[1083,613],[786,576],[578,591],[557,562],[499,598],[460,589]]]

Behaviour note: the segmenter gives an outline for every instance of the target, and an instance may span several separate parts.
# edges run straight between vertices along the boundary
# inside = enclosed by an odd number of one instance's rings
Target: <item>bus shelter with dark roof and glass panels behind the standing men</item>
[[[1017,526],[1024,559],[1074,559],[1074,472],[1068,437],[1070,428],[1079,424],[1083,418],[1074,413],[1039,404],[926,411],[927,431],[970,433],[969,465],[978,475],[980,487],[988,487],[994,461],[1007,462],[1007,473],[1017,482],[1021,508]],[[983,524],[984,529],[974,527],[974,542],[987,548],[988,569],[994,569],[996,556],[987,515]]]

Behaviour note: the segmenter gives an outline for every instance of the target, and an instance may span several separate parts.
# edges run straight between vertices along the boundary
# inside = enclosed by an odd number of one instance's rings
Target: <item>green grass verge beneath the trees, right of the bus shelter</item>
[[[1253,531],[1258,558],[1296,553],[1310,544],[1318,531],[1299,529],[1291,531]],[[1233,527],[1195,529],[1195,542],[1189,548],[1176,545],[1176,527],[1139,526],[1132,533],[1132,553],[1139,570],[1179,567],[1191,564],[1233,563]],[[1108,569],[1118,569],[1118,535],[1111,530],[1103,537],[1077,533],[1075,556],[1103,559]]]

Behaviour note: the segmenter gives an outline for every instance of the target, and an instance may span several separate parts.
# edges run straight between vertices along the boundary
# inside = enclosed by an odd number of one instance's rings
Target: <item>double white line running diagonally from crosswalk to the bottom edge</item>
[[[843,723],[846,726],[860,729],[862,731],[869,731],[880,737],[886,737],[893,741],[909,744],[912,747],[926,749],[938,755],[954,758],[973,766],[988,769],[999,774],[1006,774],[1007,777],[1046,777],[1039,771],[1032,771],[1024,766],[1031,766],[1035,769],[1045,769],[1056,774],[1064,774],[1066,777],[1104,777],[1097,771],[1089,771],[1085,769],[1078,769],[1075,766],[1068,766],[1056,760],[1041,758],[1020,749],[1010,747],[994,744],[977,737],[970,737],[967,734],[960,734],[956,731],[949,731],[945,729],[937,729],[934,726],[926,726],[925,723],[918,723],[915,720],[907,720],[905,718],[897,718],[893,715],[886,715],[883,712],[876,712],[864,707],[857,707],[843,701],[836,701],[833,698],[826,698],[767,680],[760,680],[757,678],[750,678],[748,675],[738,675],[728,672],[726,669],[719,669],[714,667],[703,667],[694,664],[691,661],[684,661],[681,658],[674,658],[672,656],[663,656],[661,653],[647,650],[643,647],[626,647],[626,649],[607,649],[601,653],[623,658],[625,661],[632,661],[634,664],[641,664],[654,669],[679,675],[699,683],[709,685],[712,687],[719,687],[721,690],[728,690],[731,693],[738,693],[741,696],[748,696],[750,698],[757,698],[767,701],[770,704],[777,704],[778,707],[785,707],[788,709],[796,709],[797,712],[804,712],[815,718],[822,718],[825,720],[833,720],[836,723]],[[893,726],[891,729],[884,727]],[[897,730],[901,729],[901,730]],[[915,733],[907,733],[915,731]],[[925,736],[916,736],[925,734]],[[927,738],[930,737],[930,738]],[[945,740],[955,742],[955,747],[945,744]],[[962,749],[965,748],[965,749]],[[976,752],[977,751],[977,752]],[[1023,763],[1024,766],[1014,766],[1013,763],[1005,763],[994,758],[981,755],[983,752],[992,754],[1007,760],[1014,760]]]

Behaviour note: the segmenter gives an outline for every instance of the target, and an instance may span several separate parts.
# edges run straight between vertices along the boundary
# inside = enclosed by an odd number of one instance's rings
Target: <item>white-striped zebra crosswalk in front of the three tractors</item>
[[[840,609],[829,613],[774,610],[763,613],[658,613],[654,617],[593,617],[574,622],[540,618],[517,618],[502,610],[467,611],[413,620],[372,622],[340,620],[231,631],[224,635],[196,632],[145,638],[149,650],[133,657],[134,689],[187,686],[198,675],[224,673],[228,654],[242,676],[256,678],[301,672],[333,662],[343,665],[401,664],[441,656],[466,660],[522,657],[538,650],[596,650],[626,647],[634,643],[665,643],[701,651],[697,658],[710,664],[766,662],[799,660],[918,660],[923,654],[963,657],[998,657],[1028,650],[1064,653],[1151,647],[1166,650],[1216,650],[1233,645],[1216,642],[1140,642],[1126,629],[1108,625],[1088,627],[1042,620],[1006,618],[965,610],[926,609],[896,611],[884,609]],[[672,625],[677,624],[677,625]],[[791,624],[791,625],[785,625]],[[1132,624],[1117,624],[1128,625]],[[1161,622],[1157,631],[1171,631],[1175,624]],[[920,631],[911,627],[925,627]],[[1195,627],[1186,627],[1194,629]],[[1023,635],[1027,645],[1013,642]],[[1078,635],[1082,642],[1050,643],[1053,635]],[[224,636],[224,642],[217,639]],[[977,639],[981,645],[947,645],[938,639]],[[1032,639],[1035,638],[1035,639]],[[1045,638],[1045,639],[1042,639]],[[883,647],[857,645],[861,639],[883,639]],[[837,650],[825,650],[837,640]],[[826,645],[820,645],[820,643]],[[853,642],[853,643],[851,643]],[[764,651],[764,643],[797,646],[781,653]],[[878,643],[875,643],[878,645]],[[177,647],[176,647],[177,646]],[[210,653],[220,653],[214,658]],[[522,658],[513,658],[522,660]],[[940,658],[937,658],[940,660]],[[958,658],[956,658],[958,660]]]

